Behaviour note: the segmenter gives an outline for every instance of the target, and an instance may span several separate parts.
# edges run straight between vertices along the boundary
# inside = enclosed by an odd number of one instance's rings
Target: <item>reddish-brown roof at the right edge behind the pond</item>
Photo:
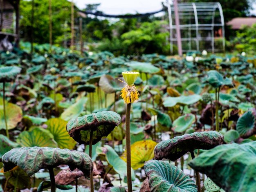
[[[248,18],[237,17],[227,22],[227,25],[231,25],[232,29],[241,29],[243,25],[247,25],[251,27],[254,23],[256,23],[255,17],[248,17]]]

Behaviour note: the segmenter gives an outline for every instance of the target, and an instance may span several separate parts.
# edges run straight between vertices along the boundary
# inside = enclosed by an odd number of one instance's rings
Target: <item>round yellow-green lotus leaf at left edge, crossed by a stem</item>
[[[12,103],[7,103],[5,105],[7,126],[8,129],[13,129],[22,119],[22,109],[18,105]],[[0,105],[0,129],[5,129],[3,105]]]

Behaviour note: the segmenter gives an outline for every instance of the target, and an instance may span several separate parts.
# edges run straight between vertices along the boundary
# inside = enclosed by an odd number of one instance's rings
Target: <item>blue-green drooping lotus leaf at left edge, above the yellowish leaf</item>
[[[16,66],[0,67],[0,82],[10,82],[20,73],[21,68]]]

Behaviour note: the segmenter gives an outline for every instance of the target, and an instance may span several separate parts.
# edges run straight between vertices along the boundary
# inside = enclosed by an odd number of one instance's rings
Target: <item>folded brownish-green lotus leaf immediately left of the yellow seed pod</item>
[[[124,83],[111,75],[103,75],[99,79],[99,86],[105,93],[115,93],[124,88]]]

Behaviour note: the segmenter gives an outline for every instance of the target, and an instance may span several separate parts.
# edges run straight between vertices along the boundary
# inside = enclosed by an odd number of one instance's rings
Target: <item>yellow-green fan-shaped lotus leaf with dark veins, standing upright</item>
[[[76,145],[76,141],[72,139],[66,131],[67,121],[61,118],[51,118],[46,123],[47,130],[53,135],[54,141],[61,149],[72,150]]]

